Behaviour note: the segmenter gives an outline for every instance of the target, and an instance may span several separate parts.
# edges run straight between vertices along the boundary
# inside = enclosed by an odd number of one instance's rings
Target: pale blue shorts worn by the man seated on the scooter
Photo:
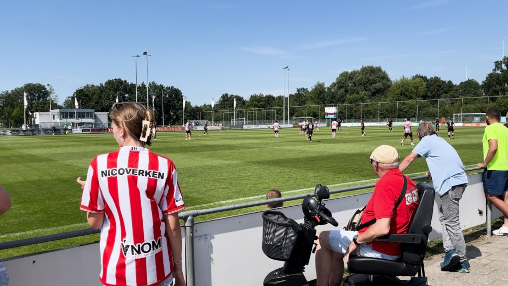
[[[328,237],[328,241],[330,242],[330,246],[332,250],[337,253],[344,254],[347,250],[347,247],[350,245],[353,237],[357,235],[356,231],[331,231],[330,236]],[[397,260],[401,256],[400,255],[387,255],[385,253],[377,252],[372,249],[372,244],[362,243],[360,244],[360,256],[363,257],[371,257],[371,258],[380,258],[380,259],[388,259],[388,260]]]

